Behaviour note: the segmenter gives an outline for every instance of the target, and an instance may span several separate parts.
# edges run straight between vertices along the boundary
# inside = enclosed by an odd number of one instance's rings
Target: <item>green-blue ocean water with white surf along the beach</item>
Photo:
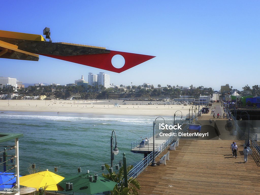
[[[19,138],[20,174],[28,174],[28,167],[35,163],[39,171],[54,172],[56,166],[57,174],[67,177],[77,174],[77,167],[81,167],[82,173],[89,170],[101,174],[101,165],[110,165],[113,130],[119,148],[114,165],[122,160],[123,152],[127,165],[137,164],[144,156],[130,151],[131,142],[152,132],[154,119],[150,116],[3,112],[0,113],[0,132],[23,133]],[[173,121],[170,116],[164,119]],[[14,145],[14,140],[0,145],[3,151],[3,146]],[[14,150],[8,152],[11,154]],[[0,171],[2,169],[0,167]]]

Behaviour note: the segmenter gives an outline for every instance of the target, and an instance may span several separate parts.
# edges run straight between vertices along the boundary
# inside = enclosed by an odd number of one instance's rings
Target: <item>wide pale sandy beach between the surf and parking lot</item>
[[[120,107],[114,107],[114,103]],[[143,115],[143,116],[173,116],[180,110],[184,118],[189,114],[191,106],[183,105],[140,105],[148,101],[126,101],[122,100],[0,100],[0,112],[53,112],[57,113],[86,113],[103,115]],[[156,103],[156,102],[153,102]],[[159,103],[159,102],[158,102]],[[165,102],[160,102],[165,103]],[[129,105],[128,105],[129,104]],[[134,104],[134,105],[133,105]],[[138,104],[138,105],[136,105]],[[182,108],[184,107],[184,108]],[[177,112],[176,114],[181,114]]]

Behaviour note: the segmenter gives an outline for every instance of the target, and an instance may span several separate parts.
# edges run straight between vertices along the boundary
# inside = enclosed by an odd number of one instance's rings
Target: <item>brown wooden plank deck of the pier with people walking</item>
[[[223,118],[220,103],[213,106],[216,106],[216,115],[219,112]],[[259,155],[253,150],[244,163],[244,141],[236,140],[232,129],[225,125],[226,119],[216,118],[213,119],[211,113],[203,114],[198,121],[202,124],[202,132],[210,132],[213,128],[216,136],[208,140],[181,138],[179,147],[170,151],[170,161],[166,161],[166,165],[148,166],[137,177],[141,183],[139,194],[260,194]],[[237,158],[231,155],[233,141],[238,145]],[[167,149],[162,152],[156,162],[167,152]]]

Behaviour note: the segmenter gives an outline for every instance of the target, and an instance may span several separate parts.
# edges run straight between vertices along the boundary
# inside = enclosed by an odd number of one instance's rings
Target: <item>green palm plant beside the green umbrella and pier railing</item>
[[[109,172],[109,165],[105,164],[107,171]],[[126,167],[126,172],[129,173],[129,171],[133,168],[133,165],[129,165]],[[102,173],[102,176],[105,177],[106,179],[115,181],[116,183],[118,183],[118,185],[115,185],[114,190],[111,191],[112,195],[127,195],[127,194],[131,194],[131,195],[138,195],[138,191],[141,184],[140,182],[133,177],[130,177],[127,181],[127,185],[128,187],[125,187],[125,182],[123,182],[124,179],[124,170],[123,167],[121,167],[118,171],[118,173],[113,172],[112,174],[108,173],[108,174],[104,174]]]

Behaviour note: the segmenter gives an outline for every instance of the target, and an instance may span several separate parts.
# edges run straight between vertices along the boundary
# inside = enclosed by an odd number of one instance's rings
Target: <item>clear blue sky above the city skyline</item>
[[[110,83],[144,82],[239,90],[259,84],[260,1],[3,1],[0,30],[53,42],[157,56],[122,73],[40,56],[0,60],[0,76],[24,83],[73,83],[105,72]]]

